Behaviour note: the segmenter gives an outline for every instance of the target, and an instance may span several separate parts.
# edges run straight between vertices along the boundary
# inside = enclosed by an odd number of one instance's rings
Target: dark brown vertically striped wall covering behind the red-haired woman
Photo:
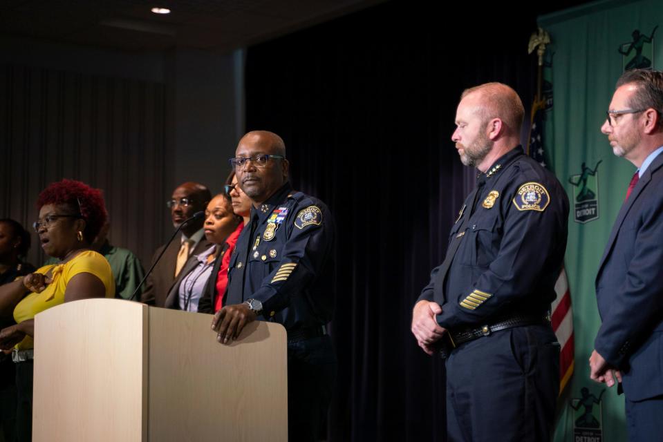
[[[104,190],[113,244],[149,262],[165,227],[153,220],[162,220],[171,191],[166,106],[156,81],[0,64],[0,218],[32,232],[39,192],[82,180]],[[40,267],[36,239],[27,260]]]

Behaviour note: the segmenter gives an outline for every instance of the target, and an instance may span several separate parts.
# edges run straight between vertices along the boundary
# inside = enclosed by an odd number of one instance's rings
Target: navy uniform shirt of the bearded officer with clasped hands
[[[451,228],[462,239],[444,285],[440,267],[420,300],[442,306],[447,329],[489,324],[514,314],[545,314],[566,251],[569,202],[556,177],[518,146],[485,173],[474,213],[463,227],[471,195]]]

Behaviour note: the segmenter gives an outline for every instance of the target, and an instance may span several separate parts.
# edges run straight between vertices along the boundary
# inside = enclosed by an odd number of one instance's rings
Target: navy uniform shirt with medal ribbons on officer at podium
[[[335,224],[326,204],[286,183],[256,209],[230,258],[224,304],[254,298],[260,320],[325,325],[334,309]]]

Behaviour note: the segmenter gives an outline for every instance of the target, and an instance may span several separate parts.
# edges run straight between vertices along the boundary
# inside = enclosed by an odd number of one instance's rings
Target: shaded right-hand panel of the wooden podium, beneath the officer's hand
[[[286,329],[254,322],[221,345],[211,324],[149,309],[149,440],[286,442]]]

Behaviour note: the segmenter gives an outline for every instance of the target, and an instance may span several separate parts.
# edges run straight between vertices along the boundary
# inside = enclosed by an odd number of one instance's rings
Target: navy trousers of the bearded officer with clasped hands
[[[559,343],[550,325],[460,345],[446,367],[449,441],[550,441],[559,393]]]

